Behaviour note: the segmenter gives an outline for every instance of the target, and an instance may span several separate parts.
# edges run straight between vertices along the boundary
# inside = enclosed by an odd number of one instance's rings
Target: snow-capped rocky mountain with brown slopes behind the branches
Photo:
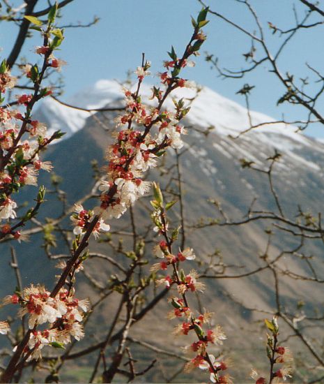
[[[121,105],[122,94],[118,83],[102,80],[88,89],[77,94],[70,101],[71,104],[84,108],[100,108],[105,105]],[[185,91],[180,95],[192,98],[194,91]],[[144,88],[148,95],[148,89]],[[150,103],[151,101],[148,101]],[[169,101],[171,103],[171,101]],[[72,110],[56,101],[48,100],[38,111],[38,119],[45,121],[53,129],[60,128],[67,131],[65,140],[52,145],[45,155],[54,163],[55,173],[63,178],[60,189],[65,191],[68,202],[82,198],[91,190],[92,174],[91,161],[96,159],[101,166],[105,149],[111,141],[109,131],[102,128],[113,127],[114,113],[89,116],[88,112]],[[257,112],[251,112],[252,124],[270,123],[270,117]],[[194,247],[198,258],[208,262],[210,254],[217,252],[222,257],[222,265],[212,267],[219,273],[220,267],[225,268],[226,275],[249,274],[262,267],[264,260],[260,256],[265,253],[268,234],[265,229],[271,226],[267,223],[254,222],[247,226],[208,226],[196,229],[199,223],[208,223],[219,218],[217,209],[210,203],[210,199],[219,201],[222,209],[232,221],[246,218],[252,201],[254,209],[267,212],[277,212],[275,199],[270,193],[268,176],[263,172],[256,172],[242,168],[241,159],[252,161],[259,169],[267,170],[270,163],[267,160],[280,152],[281,158],[273,168],[273,186],[281,200],[284,214],[294,220],[298,213],[298,205],[304,212],[317,214],[322,209],[324,197],[324,144],[295,133],[292,126],[284,124],[265,124],[261,128],[233,139],[249,126],[247,110],[237,103],[229,101],[208,88],[203,88],[192,101],[192,109],[186,118],[188,135],[185,138],[185,152],[180,156],[180,169],[183,177],[184,215],[187,226],[185,228],[187,244]],[[201,133],[204,132],[204,133]],[[184,150],[182,149],[182,150]],[[174,152],[168,154],[168,168],[174,163]],[[160,180],[158,170],[151,172],[151,179]],[[43,175],[40,183],[49,185],[49,176]],[[21,199],[31,199],[35,189],[30,188]],[[49,195],[49,200],[51,200]],[[43,208],[43,217],[57,214],[57,205],[51,200]],[[148,221],[148,214],[141,207],[137,207],[142,215],[143,225]],[[204,218],[201,221],[201,218]],[[210,219],[210,220],[209,220]],[[125,221],[128,216],[125,216]],[[114,223],[112,224],[113,227]],[[286,252],[281,258],[281,268],[289,269],[295,274],[311,276],[311,270],[304,258],[291,255],[289,251],[298,245],[298,238],[288,232],[278,232],[271,227],[276,235],[273,237],[267,251],[270,259],[281,252]],[[48,267],[47,258],[40,252],[38,246],[42,240],[36,237],[33,242],[24,246],[24,254],[19,254],[19,262],[24,271],[24,281],[35,281],[36,276],[46,283],[53,280],[53,270]],[[307,254],[314,257],[314,265],[318,276],[323,276],[323,243],[309,241],[306,245]],[[59,247],[60,249],[60,247]],[[104,250],[104,246],[100,245]],[[0,261],[1,286],[3,294],[12,290],[13,271],[8,267],[8,249],[3,252]],[[152,256],[152,263],[153,260]],[[98,281],[105,279],[109,273],[107,267],[93,266],[98,270]],[[210,272],[208,272],[210,274]],[[217,321],[224,325],[229,334],[229,344],[236,346],[238,355],[248,350],[249,343],[244,338],[236,338],[240,327],[251,325],[252,315],[245,309],[258,308],[268,310],[275,304],[274,281],[269,269],[252,274],[241,279],[206,279],[208,285],[205,295],[208,309],[215,311]],[[280,292],[282,302],[294,311],[298,302],[304,301],[305,308],[311,311],[321,305],[323,295],[321,286],[298,281],[282,279]],[[165,309],[165,308],[164,308]],[[166,309],[165,309],[166,310]],[[233,316],[236,313],[236,316]],[[151,332],[158,332],[161,309],[148,318],[146,327]],[[164,315],[163,315],[164,316]],[[241,320],[238,320],[241,319]],[[146,332],[137,327],[137,335],[146,337]],[[240,340],[240,347],[238,347]],[[181,344],[182,341],[172,341]],[[157,340],[157,344],[163,340]],[[262,344],[261,344],[262,348]]]

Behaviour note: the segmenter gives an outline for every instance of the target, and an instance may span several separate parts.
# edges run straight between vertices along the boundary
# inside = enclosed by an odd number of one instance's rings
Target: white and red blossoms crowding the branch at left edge
[[[49,161],[41,161],[39,154],[49,142],[60,138],[61,133],[58,131],[47,135],[47,127],[32,118],[31,110],[38,100],[52,94],[50,89],[41,88],[40,83],[45,70],[48,67],[54,68],[53,50],[54,47],[49,46],[36,49],[36,52],[44,56],[43,71],[39,71],[37,64],[26,64],[22,67],[24,75],[33,82],[33,94],[16,95],[16,109],[8,108],[7,105],[0,107],[0,220],[6,221],[0,228],[2,237],[21,237],[20,231],[14,230],[8,223],[17,216],[17,203],[12,194],[25,185],[37,186],[40,170],[52,170],[52,164]],[[1,103],[5,101],[6,91],[12,89],[16,82],[17,78],[11,75],[6,60],[3,60],[0,66]]]

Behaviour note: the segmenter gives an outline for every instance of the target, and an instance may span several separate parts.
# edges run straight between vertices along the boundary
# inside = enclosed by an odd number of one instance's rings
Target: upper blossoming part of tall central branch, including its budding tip
[[[205,20],[207,11],[203,11],[201,20]],[[114,133],[116,141],[107,150],[106,179],[100,185],[100,206],[93,209],[94,214],[106,221],[118,219],[138,198],[146,194],[151,186],[144,181],[145,172],[157,166],[157,159],[167,148],[183,147],[182,135],[186,130],[180,120],[187,115],[188,108],[183,99],[174,101],[174,108],[164,108],[167,96],[179,87],[190,86],[190,82],[179,77],[185,66],[193,66],[188,58],[197,55],[206,36],[201,31],[202,21],[194,26],[194,34],[182,57],[177,57],[172,48],[171,61],[165,62],[167,71],[160,74],[160,87],[153,87],[152,100],[155,106],[146,105],[139,94],[141,82],[150,75],[151,64],[143,62],[134,72],[137,75],[137,89],[123,88],[125,94],[125,112],[116,118]],[[75,221],[74,221],[75,223]],[[75,231],[84,234],[82,226]],[[103,228],[102,228],[103,229]]]

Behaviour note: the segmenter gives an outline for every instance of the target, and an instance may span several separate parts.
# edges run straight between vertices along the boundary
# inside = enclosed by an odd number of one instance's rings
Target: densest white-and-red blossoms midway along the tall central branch
[[[116,119],[123,128],[116,133],[116,143],[108,149],[107,180],[100,186],[101,205],[95,209],[103,219],[118,219],[147,193],[151,183],[144,181],[144,172],[157,166],[157,158],[167,147],[183,146],[181,133],[185,129],[179,124],[178,112],[148,108],[139,96],[124,91],[126,113]],[[144,126],[144,131],[133,128],[132,123]],[[153,129],[155,133],[151,133]]]

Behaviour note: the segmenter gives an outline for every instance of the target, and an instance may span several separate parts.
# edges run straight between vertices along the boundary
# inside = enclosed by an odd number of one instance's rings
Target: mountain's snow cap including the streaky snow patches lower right
[[[151,87],[146,84],[141,86],[141,94],[144,101],[153,105],[151,101]],[[178,89],[173,95],[176,98],[187,98],[190,102],[191,110],[187,117],[187,122],[192,126],[199,126],[203,130],[209,129],[219,135],[222,140],[215,140],[213,147],[227,158],[239,156],[249,158],[250,161],[260,163],[258,160],[261,150],[263,154],[268,154],[269,149],[277,149],[278,152],[286,156],[286,161],[301,167],[312,168],[316,172],[321,172],[321,167],[316,161],[311,160],[314,156],[300,156],[300,149],[316,149],[320,157],[324,154],[324,146],[321,140],[307,138],[302,133],[297,132],[295,126],[288,124],[275,123],[275,119],[263,115],[259,112],[251,111],[248,115],[247,110],[238,103],[220,96],[208,87],[203,87],[198,93],[194,89]],[[192,101],[192,99],[194,100]],[[93,87],[80,91],[68,100],[69,105],[78,108],[99,109],[105,107],[121,107],[123,105],[122,85],[116,80],[99,80]],[[171,108],[173,102],[167,99],[166,106]],[[49,131],[61,129],[66,135],[63,140],[70,138],[71,135],[81,130],[88,119],[95,115],[95,111],[86,112],[69,108],[52,98],[47,98],[41,108],[36,111],[36,117],[44,121],[49,127]],[[111,119],[113,124],[113,120]],[[258,126],[249,133],[242,135],[241,144],[237,145],[235,140],[229,140],[230,136],[236,137],[238,133],[247,130],[249,126]],[[254,156],[254,149],[258,156]],[[195,152],[195,156],[199,152]],[[311,158],[310,158],[311,157]],[[286,168],[286,165],[279,165]],[[206,170],[205,170],[206,171]]]

